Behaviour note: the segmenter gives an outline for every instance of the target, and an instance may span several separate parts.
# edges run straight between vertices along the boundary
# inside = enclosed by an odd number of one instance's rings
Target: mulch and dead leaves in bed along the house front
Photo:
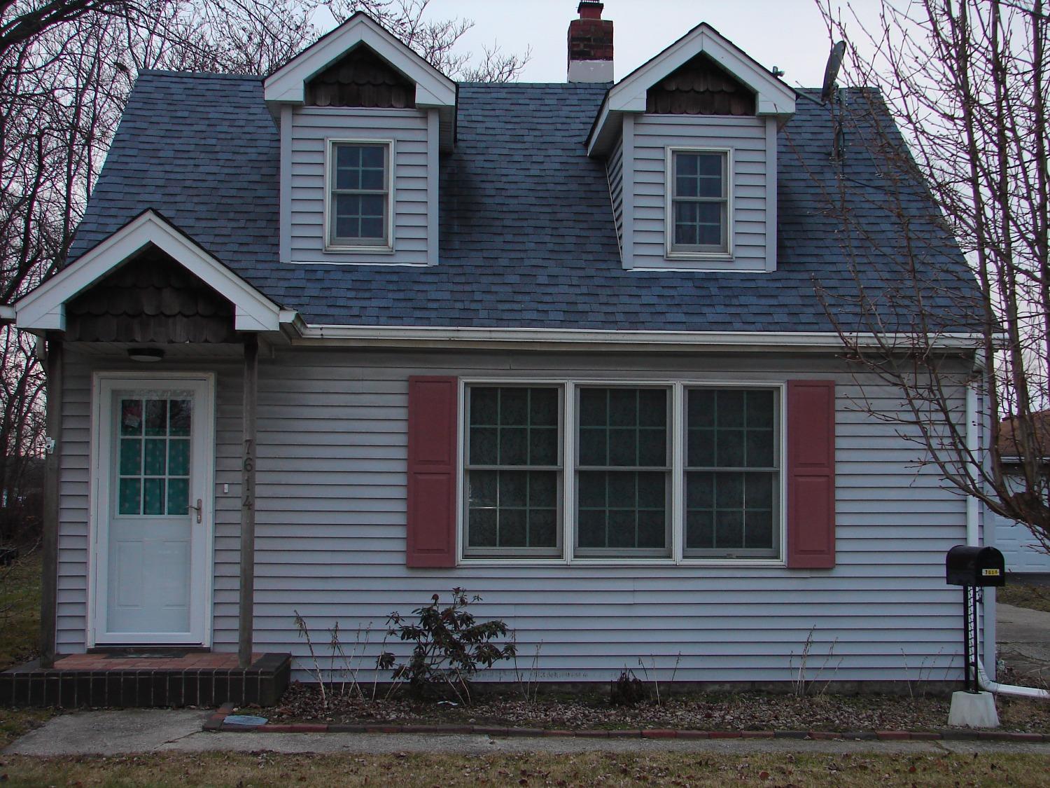
[[[469,706],[413,702],[404,697],[366,700],[293,683],[279,704],[259,711],[273,723],[328,722],[399,725],[492,725],[526,728],[692,730],[937,730],[948,720],[949,699],[898,696],[706,693],[614,706],[602,696],[481,697]],[[1050,732],[1050,704],[999,700],[1004,730]]]

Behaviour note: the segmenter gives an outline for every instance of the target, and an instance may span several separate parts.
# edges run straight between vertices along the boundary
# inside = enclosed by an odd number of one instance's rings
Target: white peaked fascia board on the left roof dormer
[[[366,16],[352,19],[343,29],[321,39],[267,78],[262,83],[264,99],[267,102],[303,103],[306,83],[360,43],[369,46],[416,83],[417,101],[422,88],[424,97],[432,102],[430,105],[456,105],[456,83]]]

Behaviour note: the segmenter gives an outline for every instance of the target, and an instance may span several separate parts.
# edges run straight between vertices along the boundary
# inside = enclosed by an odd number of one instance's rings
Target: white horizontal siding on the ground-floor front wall
[[[90,365],[89,365],[90,361]],[[126,362],[124,362],[126,365]],[[168,366],[168,362],[164,362]],[[59,648],[84,644],[89,371],[114,357],[70,353],[63,431]],[[218,373],[216,650],[236,648],[240,380],[236,359],[181,368]],[[464,378],[747,379],[837,382],[837,558],[831,571],[776,565],[565,565],[489,561],[405,566],[408,376]],[[259,364],[255,650],[291,651],[309,680],[298,610],[315,633],[344,638],[456,585],[502,618],[520,654],[539,646],[544,681],[614,679],[644,659],[662,680],[790,681],[810,633],[811,676],[837,680],[958,679],[962,605],[944,555],[965,540],[965,501],[944,489],[899,426],[860,410],[900,407],[874,378],[815,356],[660,356],[435,351],[275,350]],[[962,408],[963,398],[959,398]],[[230,483],[228,493],[223,483]],[[542,642],[542,645],[540,645]],[[396,644],[395,648],[400,648]],[[680,655],[680,660],[679,660]],[[841,662],[840,662],[841,661]],[[364,667],[368,660],[364,661]],[[510,665],[482,680],[512,680]]]

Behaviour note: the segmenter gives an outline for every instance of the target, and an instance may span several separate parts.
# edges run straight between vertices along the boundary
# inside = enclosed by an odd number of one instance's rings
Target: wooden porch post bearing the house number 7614
[[[242,414],[245,443],[240,465],[240,609],[237,661],[252,664],[255,603],[255,403],[258,397],[258,337],[245,337],[245,406]]]

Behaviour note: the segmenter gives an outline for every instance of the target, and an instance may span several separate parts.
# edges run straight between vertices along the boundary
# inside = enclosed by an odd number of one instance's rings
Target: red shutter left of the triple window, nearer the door
[[[456,565],[455,377],[408,378],[408,566]]]

